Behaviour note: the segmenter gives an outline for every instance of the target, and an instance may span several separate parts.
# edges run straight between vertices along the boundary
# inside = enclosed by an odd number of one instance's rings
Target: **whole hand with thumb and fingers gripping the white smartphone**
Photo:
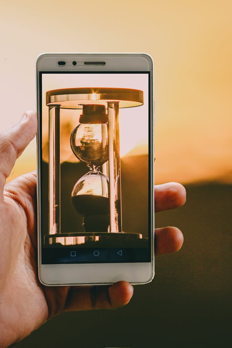
[[[22,340],[48,318],[70,310],[117,308],[129,302],[133,287],[127,282],[110,286],[54,286],[37,276],[36,172],[6,183],[6,178],[37,132],[34,111],[0,134],[0,347]],[[181,184],[155,186],[155,211],[185,203]],[[155,230],[155,254],[179,250],[183,235],[175,227]]]

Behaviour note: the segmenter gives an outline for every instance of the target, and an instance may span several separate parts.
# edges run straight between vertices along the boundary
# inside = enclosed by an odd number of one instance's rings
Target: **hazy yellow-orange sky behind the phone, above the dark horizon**
[[[147,52],[155,64],[155,181],[232,182],[231,13],[224,0],[4,1],[0,130],[36,108],[40,53]],[[33,141],[9,179],[35,163]]]

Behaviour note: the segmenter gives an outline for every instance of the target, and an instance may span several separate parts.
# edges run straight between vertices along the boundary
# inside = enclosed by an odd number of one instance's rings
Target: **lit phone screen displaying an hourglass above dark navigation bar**
[[[39,73],[42,264],[151,262],[150,78]]]

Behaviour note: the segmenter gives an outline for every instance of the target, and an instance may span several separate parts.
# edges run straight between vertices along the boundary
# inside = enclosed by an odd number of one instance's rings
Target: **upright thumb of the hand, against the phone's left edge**
[[[16,159],[21,155],[37,132],[37,116],[33,110],[24,112],[12,128],[0,133],[0,192],[10,175]]]

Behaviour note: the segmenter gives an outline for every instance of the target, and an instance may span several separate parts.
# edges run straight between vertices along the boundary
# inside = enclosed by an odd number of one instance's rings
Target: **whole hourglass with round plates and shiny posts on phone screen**
[[[142,246],[141,234],[122,231],[119,108],[143,105],[143,91],[50,90],[46,93],[46,105],[49,107],[49,233],[45,235],[45,245]],[[82,109],[70,135],[70,146],[89,171],[77,180],[69,194],[72,206],[83,218],[84,232],[61,229],[62,109]]]

